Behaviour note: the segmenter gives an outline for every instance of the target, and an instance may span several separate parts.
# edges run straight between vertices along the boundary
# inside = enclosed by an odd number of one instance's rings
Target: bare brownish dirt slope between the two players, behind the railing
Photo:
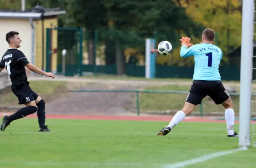
[[[68,89],[97,89],[97,90],[136,90],[143,86],[130,84],[108,83],[74,83],[67,84]],[[46,112],[50,114],[77,114],[77,115],[117,115],[135,113],[135,93],[96,93],[70,92],[47,104]]]

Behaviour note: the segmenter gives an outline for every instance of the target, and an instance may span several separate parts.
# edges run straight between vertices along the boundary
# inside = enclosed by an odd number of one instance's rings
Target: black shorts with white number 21
[[[12,92],[17,96],[19,104],[27,104],[38,98],[38,95],[29,87],[29,82],[12,86]]]

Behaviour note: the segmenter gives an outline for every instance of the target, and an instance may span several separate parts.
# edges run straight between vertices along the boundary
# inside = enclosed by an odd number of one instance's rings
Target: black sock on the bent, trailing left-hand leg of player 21
[[[13,120],[21,119],[23,117],[26,117],[29,114],[33,114],[36,111],[37,111],[37,107],[35,107],[35,106],[24,107],[24,108],[18,110],[16,113],[9,116],[8,120],[9,120],[9,122],[12,122]]]

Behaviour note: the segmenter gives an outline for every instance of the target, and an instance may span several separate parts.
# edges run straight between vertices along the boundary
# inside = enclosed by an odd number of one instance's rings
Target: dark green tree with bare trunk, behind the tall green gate
[[[59,16],[59,27],[85,28],[84,38],[87,41],[89,64],[94,62],[94,30],[104,23],[104,11],[100,0],[27,0],[29,8],[37,3],[45,8],[58,8],[67,13]],[[103,22],[103,23],[102,23]],[[62,35],[60,33],[58,35]]]

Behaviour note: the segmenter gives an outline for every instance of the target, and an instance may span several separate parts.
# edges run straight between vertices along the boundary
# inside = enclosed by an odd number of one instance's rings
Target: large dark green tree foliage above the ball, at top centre
[[[180,45],[182,32],[199,37],[201,32],[195,30],[204,29],[186,15],[183,7],[175,5],[172,1],[106,1],[105,6],[110,27],[115,30],[112,36],[118,37],[118,43],[124,47],[139,47],[145,51],[145,38],[154,38],[156,31],[157,42],[168,39],[173,47],[177,47]],[[118,31],[120,29],[122,31]],[[166,61],[163,61],[163,64],[166,64]]]

